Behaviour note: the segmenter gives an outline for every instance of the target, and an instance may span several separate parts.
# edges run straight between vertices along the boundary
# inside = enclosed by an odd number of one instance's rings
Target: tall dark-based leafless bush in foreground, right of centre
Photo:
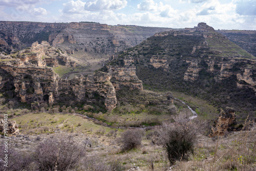
[[[171,165],[177,160],[186,160],[188,154],[194,152],[197,133],[204,126],[198,120],[190,120],[188,113],[180,113],[173,119],[173,123],[164,122],[156,129]]]

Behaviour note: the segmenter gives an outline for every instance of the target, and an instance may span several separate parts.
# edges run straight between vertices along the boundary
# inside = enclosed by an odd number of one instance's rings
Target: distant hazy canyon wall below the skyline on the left
[[[0,22],[0,30],[0,45],[9,52],[45,40],[61,49],[114,54],[169,29],[94,23]]]

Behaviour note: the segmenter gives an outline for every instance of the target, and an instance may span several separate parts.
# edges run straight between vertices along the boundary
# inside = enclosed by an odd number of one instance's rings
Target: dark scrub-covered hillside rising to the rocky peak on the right
[[[157,33],[110,65],[136,66],[144,88],[181,91],[255,117],[256,57],[204,23]],[[104,71],[104,69],[102,69]]]

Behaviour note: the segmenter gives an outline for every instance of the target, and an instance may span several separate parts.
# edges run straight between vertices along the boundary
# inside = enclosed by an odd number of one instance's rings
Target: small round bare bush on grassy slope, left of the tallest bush
[[[140,130],[127,130],[121,134],[123,150],[138,147],[141,144],[142,132]]]

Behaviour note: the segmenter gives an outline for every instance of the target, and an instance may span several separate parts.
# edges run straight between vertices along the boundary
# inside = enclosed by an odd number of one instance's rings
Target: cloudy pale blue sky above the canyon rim
[[[256,30],[256,0],[0,0],[0,20]]]

